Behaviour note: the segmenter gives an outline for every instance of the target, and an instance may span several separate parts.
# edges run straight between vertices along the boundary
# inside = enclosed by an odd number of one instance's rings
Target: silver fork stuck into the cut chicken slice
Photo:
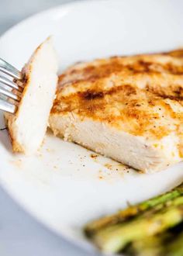
[[[0,75],[0,110],[15,113],[23,88],[23,83],[21,82],[22,74],[16,67],[1,58],[0,71],[7,75],[7,78]]]

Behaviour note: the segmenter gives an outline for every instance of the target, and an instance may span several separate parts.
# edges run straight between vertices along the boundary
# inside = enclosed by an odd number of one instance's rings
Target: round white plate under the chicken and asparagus
[[[88,1],[63,5],[26,19],[0,39],[0,56],[21,68],[34,48],[54,35],[60,69],[74,61],[168,50],[183,45],[183,2]],[[1,126],[4,126],[1,116]],[[2,186],[47,227],[81,246],[88,220],[112,213],[177,185],[183,164],[154,175],[124,170],[105,157],[48,134],[35,156],[13,155],[0,132]],[[116,171],[116,169],[119,169]]]

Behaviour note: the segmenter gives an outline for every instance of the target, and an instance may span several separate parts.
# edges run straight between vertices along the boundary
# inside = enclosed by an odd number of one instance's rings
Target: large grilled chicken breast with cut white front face
[[[50,128],[141,171],[183,157],[183,50],[75,64],[60,75]]]

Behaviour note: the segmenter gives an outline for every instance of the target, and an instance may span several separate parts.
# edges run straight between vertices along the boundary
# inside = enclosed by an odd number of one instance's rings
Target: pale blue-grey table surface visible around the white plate
[[[71,0],[0,0],[0,35],[20,20]],[[89,256],[47,230],[0,188],[1,256]]]

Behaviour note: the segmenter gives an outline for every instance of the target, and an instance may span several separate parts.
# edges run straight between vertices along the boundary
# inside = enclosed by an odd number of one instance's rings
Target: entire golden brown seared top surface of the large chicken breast
[[[60,75],[51,114],[74,112],[161,139],[183,121],[183,50],[76,64]]]

